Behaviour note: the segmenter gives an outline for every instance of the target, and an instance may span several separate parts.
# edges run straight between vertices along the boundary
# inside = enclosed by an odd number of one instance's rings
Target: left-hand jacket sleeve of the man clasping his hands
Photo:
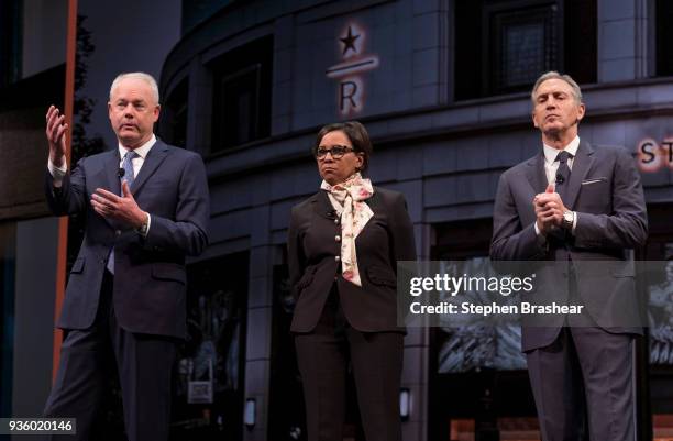
[[[521,225],[521,219],[507,177],[507,174],[503,174],[498,181],[493,209],[490,260],[530,261],[542,258],[547,253],[545,240],[536,234],[534,224]]]

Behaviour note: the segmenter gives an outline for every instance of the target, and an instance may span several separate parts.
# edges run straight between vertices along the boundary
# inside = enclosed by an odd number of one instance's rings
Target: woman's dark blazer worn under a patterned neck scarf
[[[374,216],[355,239],[358,287],[341,277],[339,219],[326,191],[293,207],[288,231],[289,283],[297,300],[293,332],[310,332],[336,282],[349,323],[363,332],[404,331],[397,324],[397,261],[416,261],[413,225],[400,192],[376,187],[366,200]]]

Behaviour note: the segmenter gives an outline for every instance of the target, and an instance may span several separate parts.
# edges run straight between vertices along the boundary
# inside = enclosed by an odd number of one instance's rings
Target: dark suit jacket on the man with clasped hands
[[[500,176],[493,216],[490,258],[494,261],[561,261],[572,265],[578,295],[596,323],[611,332],[641,332],[629,322],[638,309],[633,265],[626,250],[642,245],[648,236],[646,202],[632,157],[621,147],[592,146],[582,141],[573,162],[564,205],[577,212],[574,236],[565,245],[541,241],[536,235],[532,200],[547,188],[544,155],[516,165]],[[595,274],[586,261],[609,261],[610,271]],[[592,269],[592,271],[589,271]],[[567,286],[550,274],[540,289]],[[593,274],[594,273],[594,274]],[[550,344],[563,317],[555,316],[548,328],[522,331],[525,351]]]

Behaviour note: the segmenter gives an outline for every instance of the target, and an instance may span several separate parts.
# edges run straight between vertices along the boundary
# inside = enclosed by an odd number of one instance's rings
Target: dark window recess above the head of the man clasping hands
[[[456,0],[455,100],[528,91],[547,70],[595,82],[596,11],[596,0]]]

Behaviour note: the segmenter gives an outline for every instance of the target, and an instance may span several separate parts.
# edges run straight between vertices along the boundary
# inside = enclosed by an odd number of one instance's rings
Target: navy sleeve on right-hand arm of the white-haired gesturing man
[[[144,246],[154,251],[177,251],[198,255],[208,245],[210,196],[206,166],[198,155],[187,158],[179,176],[179,196],[175,219],[150,213],[152,225]]]

